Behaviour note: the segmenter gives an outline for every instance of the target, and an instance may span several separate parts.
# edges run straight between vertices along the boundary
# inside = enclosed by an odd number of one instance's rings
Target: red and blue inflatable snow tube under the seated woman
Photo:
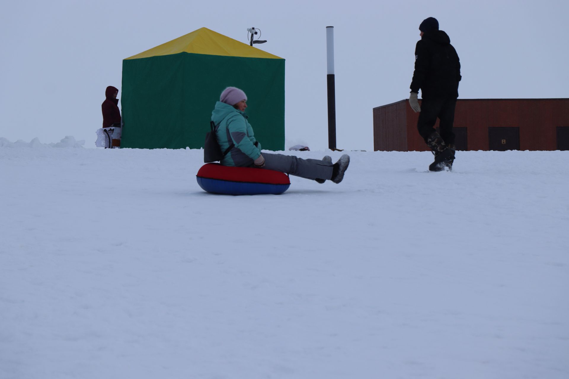
[[[279,195],[290,187],[288,176],[282,172],[218,163],[201,166],[196,178],[204,191],[224,195]]]

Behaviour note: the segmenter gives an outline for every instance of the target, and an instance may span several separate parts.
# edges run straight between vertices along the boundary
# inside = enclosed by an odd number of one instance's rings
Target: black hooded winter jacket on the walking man
[[[423,99],[459,96],[460,60],[451,39],[442,30],[424,32],[415,47],[411,92]]]

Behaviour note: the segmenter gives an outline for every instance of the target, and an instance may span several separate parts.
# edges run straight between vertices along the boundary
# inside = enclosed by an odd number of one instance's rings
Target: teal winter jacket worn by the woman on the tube
[[[224,166],[250,166],[261,155],[261,144],[255,140],[248,116],[234,107],[218,101],[212,112],[212,121],[218,126],[216,136],[221,151],[230,144],[235,147],[221,160]]]

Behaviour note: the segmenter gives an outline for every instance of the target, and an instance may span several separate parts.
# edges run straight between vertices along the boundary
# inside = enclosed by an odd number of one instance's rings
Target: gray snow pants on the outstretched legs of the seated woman
[[[307,179],[325,179],[332,177],[332,162],[319,159],[302,159],[293,155],[261,153],[265,157],[265,166],[268,170],[284,172]]]

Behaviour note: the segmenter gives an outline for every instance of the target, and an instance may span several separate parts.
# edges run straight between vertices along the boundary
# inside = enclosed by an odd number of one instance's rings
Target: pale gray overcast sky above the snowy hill
[[[200,27],[244,43],[246,28],[257,27],[268,40],[257,46],[286,59],[286,147],[324,149],[325,27],[334,26],[337,146],[370,151],[372,109],[409,97],[418,27],[428,16],[459,54],[459,98],[569,97],[568,3],[5,2],[0,137],[50,143],[72,135],[94,147],[105,88],[121,89],[123,59]]]

